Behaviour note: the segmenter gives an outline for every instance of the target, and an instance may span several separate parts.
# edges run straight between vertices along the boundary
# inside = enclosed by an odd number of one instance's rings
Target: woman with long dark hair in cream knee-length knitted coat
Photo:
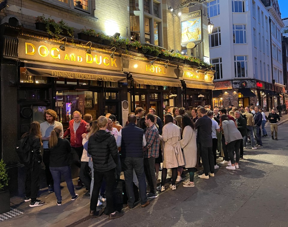
[[[194,187],[194,172],[197,162],[196,130],[194,123],[188,116],[182,117],[182,140],[180,146],[183,149],[185,168],[188,169],[190,179],[184,181],[184,187]]]

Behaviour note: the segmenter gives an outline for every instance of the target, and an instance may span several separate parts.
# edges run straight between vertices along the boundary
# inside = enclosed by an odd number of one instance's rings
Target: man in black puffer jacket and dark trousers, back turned
[[[101,214],[96,211],[98,195],[103,178],[106,181],[106,212],[109,219],[121,217],[124,213],[115,211],[113,203],[113,188],[115,185],[115,167],[118,163],[118,148],[115,137],[106,132],[108,120],[101,116],[97,120],[99,130],[90,136],[87,152],[92,156],[94,167],[94,187],[90,202],[90,216],[98,217]]]

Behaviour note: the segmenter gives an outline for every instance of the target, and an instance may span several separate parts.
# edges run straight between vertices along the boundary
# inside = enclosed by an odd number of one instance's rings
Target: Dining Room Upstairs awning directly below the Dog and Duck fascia
[[[25,63],[26,74],[44,77],[71,78],[81,80],[101,80],[127,82],[126,74],[121,72],[95,70],[90,68],[61,66],[43,63]]]

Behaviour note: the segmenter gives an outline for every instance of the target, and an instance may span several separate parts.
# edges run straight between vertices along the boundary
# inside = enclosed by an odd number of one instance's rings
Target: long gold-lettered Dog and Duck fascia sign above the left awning
[[[67,45],[65,51],[61,51],[62,43],[47,43],[36,40],[19,38],[18,57],[20,60],[33,60],[49,63],[60,63],[73,66],[86,66],[106,70],[121,71],[121,57],[111,58],[109,54],[93,51],[86,53],[87,46]]]

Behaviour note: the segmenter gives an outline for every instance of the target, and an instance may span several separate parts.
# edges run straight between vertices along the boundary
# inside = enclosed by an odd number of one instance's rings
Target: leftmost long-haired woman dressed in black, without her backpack
[[[22,135],[22,138],[28,136],[31,155],[31,163],[29,166],[25,166],[26,169],[26,182],[25,182],[25,202],[30,202],[30,207],[42,206],[45,202],[36,199],[38,196],[38,190],[40,187],[40,165],[42,157],[40,154],[40,148],[42,144],[42,136],[40,130],[40,124],[37,121],[33,121],[30,125],[29,132]]]

